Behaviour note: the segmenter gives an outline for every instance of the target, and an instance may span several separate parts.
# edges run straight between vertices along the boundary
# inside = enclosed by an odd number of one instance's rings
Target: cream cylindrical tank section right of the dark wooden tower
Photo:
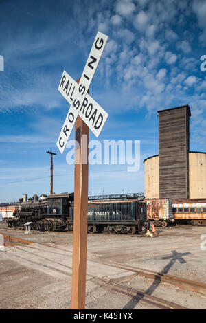
[[[189,153],[190,199],[206,198],[206,153]]]

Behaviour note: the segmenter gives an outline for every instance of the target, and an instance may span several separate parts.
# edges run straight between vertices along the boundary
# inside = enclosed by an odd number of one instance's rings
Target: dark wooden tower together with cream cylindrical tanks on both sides
[[[206,153],[190,151],[190,107],[159,113],[159,155],[144,160],[146,199],[206,198]]]

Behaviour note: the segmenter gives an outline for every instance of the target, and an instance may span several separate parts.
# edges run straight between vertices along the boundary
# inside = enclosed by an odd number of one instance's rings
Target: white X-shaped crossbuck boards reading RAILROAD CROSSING
[[[91,52],[84,67],[84,71],[80,78],[79,84],[63,71],[62,78],[58,90],[62,96],[71,104],[67,118],[62,126],[62,130],[58,137],[57,146],[61,153],[65,150],[67,141],[71,134],[73,125],[76,122],[78,115],[89,126],[89,129],[95,134],[96,137],[100,135],[108,113],[100,107],[100,105],[89,96],[87,93],[91,80],[95,74],[95,69],[98,66],[100,57],[106,45],[108,36],[98,32],[95,36],[95,41],[91,47]]]

